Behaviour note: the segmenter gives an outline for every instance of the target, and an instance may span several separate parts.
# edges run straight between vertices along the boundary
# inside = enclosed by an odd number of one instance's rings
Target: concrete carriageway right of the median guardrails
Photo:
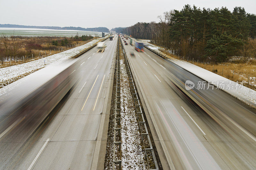
[[[255,169],[255,113],[219,89],[190,90],[188,95],[196,94],[201,107],[211,108],[207,114],[176,86],[185,88],[182,82],[200,81],[198,77],[145,48],[137,52],[126,41],[124,48],[164,169]]]

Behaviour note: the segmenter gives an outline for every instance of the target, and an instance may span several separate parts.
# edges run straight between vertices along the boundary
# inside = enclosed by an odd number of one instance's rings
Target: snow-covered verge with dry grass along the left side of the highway
[[[100,38],[104,39],[104,38]],[[10,67],[4,67],[0,68],[0,87],[4,87],[13,81],[16,81],[22,77],[25,77],[28,74],[31,74],[41,68],[46,67],[47,65],[57,65],[60,64],[63,60],[67,60],[80,51],[92,46],[96,42],[98,42],[100,39],[94,39],[82,46],[77,46],[75,48],[63,51],[61,53],[53,54],[38,60],[33,60],[27,63],[18,64]],[[0,89],[3,91],[4,88]]]

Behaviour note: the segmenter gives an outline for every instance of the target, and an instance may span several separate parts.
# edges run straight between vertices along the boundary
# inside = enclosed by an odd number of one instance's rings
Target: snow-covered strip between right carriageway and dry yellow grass
[[[170,56],[167,56],[166,54],[164,54],[160,50],[158,50],[157,46],[154,46],[149,43],[144,43],[144,44],[147,44],[149,48],[166,56],[167,58],[169,58],[172,62],[174,62],[178,66],[188,70],[189,72],[197,75],[198,77],[201,77],[205,81],[214,83],[214,85],[216,85],[218,88],[226,91],[227,93],[231,94],[232,96],[235,96],[250,105],[256,106],[256,91],[255,90],[247,88],[243,85],[240,85],[234,81],[231,81],[231,80],[229,80],[225,77],[222,77],[218,74],[215,74],[211,71],[205,70],[204,68],[198,67],[198,66],[196,66],[192,63],[189,63],[187,61],[178,60],[178,59],[174,59]],[[220,84],[218,82],[223,82],[223,83]],[[229,86],[231,88],[222,88],[222,87],[227,87],[227,86]],[[236,87],[239,87],[239,88],[236,88]]]

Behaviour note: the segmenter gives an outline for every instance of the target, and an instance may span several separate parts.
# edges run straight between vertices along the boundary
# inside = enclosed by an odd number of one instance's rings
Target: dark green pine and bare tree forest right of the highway
[[[202,10],[185,5],[164,12],[160,22],[137,23],[121,32],[151,39],[171,53],[200,61],[224,62],[231,56],[256,57],[256,16],[241,7]]]

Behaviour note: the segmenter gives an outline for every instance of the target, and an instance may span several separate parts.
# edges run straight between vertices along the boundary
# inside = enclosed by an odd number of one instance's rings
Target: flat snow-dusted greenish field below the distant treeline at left
[[[13,32],[14,30],[14,32]],[[93,31],[79,31],[79,30],[52,30],[52,29],[40,29],[40,28],[0,28],[0,35],[6,36],[28,36],[28,37],[74,37],[82,35],[97,35],[98,37],[102,36],[101,32]],[[105,32],[105,35],[108,34]]]

